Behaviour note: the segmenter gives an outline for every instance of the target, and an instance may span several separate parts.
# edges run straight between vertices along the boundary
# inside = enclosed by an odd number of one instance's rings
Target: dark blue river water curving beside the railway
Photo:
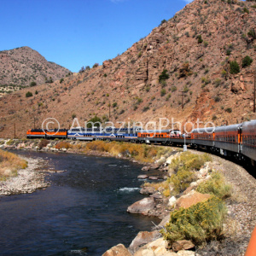
[[[15,151],[45,160],[49,188],[0,197],[0,255],[102,255],[128,247],[148,218],[126,212],[141,200],[141,168],[127,160],[82,154]]]

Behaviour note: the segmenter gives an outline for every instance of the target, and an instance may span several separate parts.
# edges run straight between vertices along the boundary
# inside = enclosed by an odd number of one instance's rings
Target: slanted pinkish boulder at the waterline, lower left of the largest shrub
[[[141,231],[137,236],[131,241],[131,245],[128,248],[131,253],[135,253],[140,247],[143,247],[150,241],[154,241],[158,236],[160,236],[157,230],[152,232]]]

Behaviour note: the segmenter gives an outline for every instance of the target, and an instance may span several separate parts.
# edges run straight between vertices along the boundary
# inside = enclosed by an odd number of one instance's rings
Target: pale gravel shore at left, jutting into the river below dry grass
[[[16,177],[0,182],[0,195],[32,193],[36,189],[43,189],[49,185],[44,182],[45,174],[35,171],[42,160],[22,158],[27,161],[28,166],[24,170],[19,170]]]

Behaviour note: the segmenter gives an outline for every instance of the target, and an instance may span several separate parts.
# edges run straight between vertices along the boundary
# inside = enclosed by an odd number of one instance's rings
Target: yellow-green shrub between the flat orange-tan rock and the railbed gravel
[[[230,197],[231,186],[225,184],[224,177],[219,172],[213,172],[212,177],[205,183],[201,183],[196,191],[202,194],[216,195],[220,199]]]

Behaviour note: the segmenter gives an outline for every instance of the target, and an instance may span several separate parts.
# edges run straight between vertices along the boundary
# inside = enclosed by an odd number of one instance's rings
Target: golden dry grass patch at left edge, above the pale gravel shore
[[[5,180],[8,177],[17,175],[17,170],[26,168],[26,160],[19,156],[0,149],[0,179]]]

